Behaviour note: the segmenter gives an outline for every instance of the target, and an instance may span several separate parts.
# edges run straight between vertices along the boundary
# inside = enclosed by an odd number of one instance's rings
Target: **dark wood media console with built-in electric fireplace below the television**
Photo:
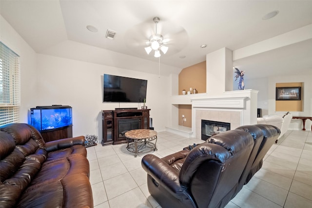
[[[117,108],[102,111],[102,145],[127,143],[125,132],[134,129],[149,129],[151,109]]]

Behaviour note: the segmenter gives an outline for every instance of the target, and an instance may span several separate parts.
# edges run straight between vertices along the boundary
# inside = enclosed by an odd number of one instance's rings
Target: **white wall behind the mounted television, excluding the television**
[[[146,105],[151,109],[153,126],[163,131],[168,122],[171,95],[168,76],[152,75],[67,58],[38,55],[38,100],[36,105],[73,107],[73,136],[95,134],[102,138],[101,110],[139,108],[138,103],[103,102],[103,74],[147,79]]]

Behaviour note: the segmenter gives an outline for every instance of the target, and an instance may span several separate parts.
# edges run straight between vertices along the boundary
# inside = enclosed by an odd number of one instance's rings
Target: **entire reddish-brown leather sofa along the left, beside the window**
[[[92,208],[84,137],[45,143],[28,124],[0,128],[1,208]]]

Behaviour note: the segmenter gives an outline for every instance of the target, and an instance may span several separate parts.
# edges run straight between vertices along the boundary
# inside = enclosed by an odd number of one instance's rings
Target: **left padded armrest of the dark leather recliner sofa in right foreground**
[[[153,154],[147,154],[142,158],[141,165],[147,174],[156,181],[156,186],[165,187],[175,197],[183,194],[183,187],[179,182],[179,174],[165,161]],[[178,197],[177,197],[178,198]]]

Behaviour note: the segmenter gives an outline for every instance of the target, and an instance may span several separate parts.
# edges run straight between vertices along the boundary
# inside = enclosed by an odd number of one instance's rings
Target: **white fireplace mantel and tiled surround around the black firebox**
[[[201,138],[201,120],[227,122],[233,130],[243,125],[256,124],[257,94],[255,90],[229,91],[214,98],[192,100],[192,132]]]

